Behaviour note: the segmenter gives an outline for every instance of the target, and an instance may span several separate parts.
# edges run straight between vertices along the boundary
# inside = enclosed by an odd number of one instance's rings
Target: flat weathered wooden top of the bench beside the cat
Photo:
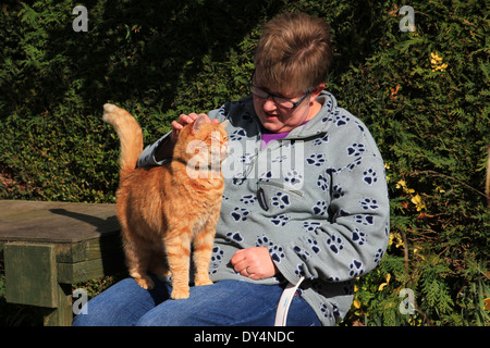
[[[0,200],[0,241],[76,243],[119,231],[115,204]]]

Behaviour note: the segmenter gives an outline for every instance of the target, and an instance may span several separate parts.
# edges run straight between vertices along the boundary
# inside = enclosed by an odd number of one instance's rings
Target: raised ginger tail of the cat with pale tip
[[[143,151],[143,132],[136,120],[124,109],[113,104],[103,105],[102,120],[111,124],[121,141],[121,178],[133,172]]]

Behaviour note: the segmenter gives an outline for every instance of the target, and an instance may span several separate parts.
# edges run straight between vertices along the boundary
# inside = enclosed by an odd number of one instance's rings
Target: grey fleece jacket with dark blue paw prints
[[[318,114],[282,139],[261,145],[253,98],[209,113],[229,120],[230,153],[211,258],[211,281],[296,284],[323,325],[339,323],[353,300],[354,279],[382,259],[389,238],[384,165],[367,127],[327,92]],[[168,135],[166,135],[167,137]],[[158,165],[155,150],[138,165]],[[233,270],[238,249],[267,247],[280,274],[253,281]]]

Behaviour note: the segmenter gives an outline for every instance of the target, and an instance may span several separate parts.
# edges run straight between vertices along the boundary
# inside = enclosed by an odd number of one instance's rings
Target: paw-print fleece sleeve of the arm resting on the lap
[[[366,129],[358,138],[352,132],[341,134],[335,144],[335,151],[330,151],[334,165],[324,170],[328,188],[319,189],[323,198],[304,197],[311,206],[324,199],[324,219],[302,221],[294,233],[277,240],[285,257],[275,264],[291,283],[299,276],[323,282],[353,279],[375,269],[388,246],[390,204],[384,164],[373,139]],[[363,151],[351,152],[356,151],[352,145],[358,144]]]

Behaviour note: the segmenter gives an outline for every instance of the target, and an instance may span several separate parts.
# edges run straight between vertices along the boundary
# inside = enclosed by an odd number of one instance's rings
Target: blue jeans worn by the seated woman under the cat
[[[241,281],[221,281],[191,287],[191,297],[170,299],[169,284],[154,278],[145,290],[125,278],[89,300],[87,314],[78,314],[75,326],[270,326],[282,287]],[[289,326],[320,326],[308,303],[295,296],[287,314]]]

